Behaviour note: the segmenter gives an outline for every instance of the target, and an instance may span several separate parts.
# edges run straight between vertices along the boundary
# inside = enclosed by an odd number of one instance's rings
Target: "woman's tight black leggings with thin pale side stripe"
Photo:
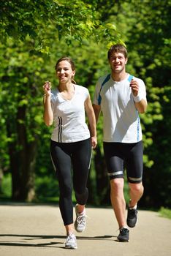
[[[73,223],[71,168],[75,198],[77,203],[85,205],[88,199],[86,184],[91,162],[91,140],[75,143],[58,143],[51,140],[50,154],[58,178],[61,216],[64,225],[69,225]]]

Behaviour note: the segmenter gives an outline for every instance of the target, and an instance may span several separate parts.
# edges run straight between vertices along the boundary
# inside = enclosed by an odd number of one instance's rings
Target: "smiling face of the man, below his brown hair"
[[[110,56],[110,67],[113,72],[120,73],[125,69],[125,65],[127,63],[127,58],[123,55],[123,53],[113,53]]]

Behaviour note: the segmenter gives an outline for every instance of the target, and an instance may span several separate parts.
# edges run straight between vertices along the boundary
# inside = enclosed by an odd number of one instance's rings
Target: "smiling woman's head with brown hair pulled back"
[[[60,83],[68,83],[75,76],[75,70],[72,70],[68,61],[61,61],[56,67],[56,75]]]

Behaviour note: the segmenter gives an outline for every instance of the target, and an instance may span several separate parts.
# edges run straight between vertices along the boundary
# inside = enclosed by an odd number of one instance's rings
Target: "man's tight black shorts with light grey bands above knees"
[[[142,141],[138,143],[104,142],[103,146],[110,179],[123,178],[124,167],[126,167],[126,175],[130,183],[140,183],[142,181]]]

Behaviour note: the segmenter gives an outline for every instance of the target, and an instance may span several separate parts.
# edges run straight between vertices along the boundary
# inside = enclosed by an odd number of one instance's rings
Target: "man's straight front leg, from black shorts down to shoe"
[[[119,226],[118,241],[129,241],[126,227],[126,202],[123,195],[123,143],[104,143],[104,157],[110,176],[110,199]]]

